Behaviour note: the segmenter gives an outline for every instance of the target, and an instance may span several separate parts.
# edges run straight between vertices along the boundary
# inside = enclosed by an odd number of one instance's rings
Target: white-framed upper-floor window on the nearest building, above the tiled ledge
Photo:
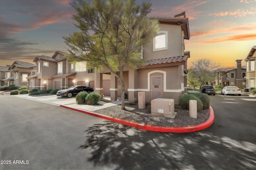
[[[153,51],[160,51],[168,49],[168,32],[160,31],[158,35],[153,38]]]

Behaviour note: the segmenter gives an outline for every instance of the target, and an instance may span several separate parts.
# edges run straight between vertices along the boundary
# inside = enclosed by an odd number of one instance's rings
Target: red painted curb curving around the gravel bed
[[[69,106],[65,106],[65,105],[60,105],[60,107],[72,109],[72,110],[75,110],[75,111],[79,111],[79,112],[82,112],[82,113],[86,113],[86,114],[89,114],[89,115],[100,117],[102,119],[106,119],[106,120],[109,120],[109,121],[114,121],[116,123],[121,123],[123,125],[136,127],[138,129],[142,129],[142,130],[146,130],[146,131],[165,132],[165,133],[188,133],[188,132],[200,131],[202,129],[206,129],[207,127],[210,127],[210,125],[212,125],[212,123],[214,121],[214,111],[213,111],[211,106],[210,106],[210,117],[207,121],[205,121],[204,123],[202,123],[200,125],[189,126],[189,127],[157,127],[157,126],[150,126],[150,125],[135,123],[135,122],[132,122],[132,121],[126,121],[126,120],[118,119],[118,118],[115,118],[115,117],[110,117],[110,116],[107,116],[107,115],[102,115],[102,114],[99,114],[99,113],[94,113],[94,112],[91,112],[91,111],[85,111],[85,110],[82,110],[82,109],[77,109],[77,108],[69,107]]]

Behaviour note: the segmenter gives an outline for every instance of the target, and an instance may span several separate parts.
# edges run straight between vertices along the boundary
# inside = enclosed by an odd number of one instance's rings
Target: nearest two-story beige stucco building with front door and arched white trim
[[[185,13],[174,18],[152,17],[159,22],[160,31],[152,41],[142,47],[145,65],[138,70],[124,68],[125,93],[129,102],[138,100],[138,92],[145,92],[146,102],[155,98],[171,98],[175,104],[186,93],[187,60],[184,39],[190,39],[188,18]],[[110,97],[120,96],[120,83],[108,69],[95,72],[95,92],[103,93],[102,77],[110,74]]]

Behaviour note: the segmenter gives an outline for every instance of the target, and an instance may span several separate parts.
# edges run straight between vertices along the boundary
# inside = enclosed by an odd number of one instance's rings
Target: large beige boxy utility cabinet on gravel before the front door
[[[156,98],[151,101],[151,114],[172,117],[174,114],[174,100]]]

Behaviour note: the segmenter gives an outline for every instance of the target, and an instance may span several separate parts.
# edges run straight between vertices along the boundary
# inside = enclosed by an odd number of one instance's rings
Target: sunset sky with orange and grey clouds
[[[256,0],[136,0],[150,2],[148,16],[174,17],[186,12],[190,39],[188,67],[211,59],[222,68],[236,67],[256,45]],[[72,0],[0,0],[0,66],[33,63],[37,55],[68,52],[62,37],[78,29]],[[33,63],[34,64],[34,63]]]

